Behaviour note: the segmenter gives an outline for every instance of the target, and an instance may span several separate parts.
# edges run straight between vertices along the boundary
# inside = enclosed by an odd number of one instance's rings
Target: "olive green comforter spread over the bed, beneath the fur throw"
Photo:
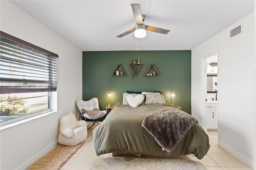
[[[106,153],[130,153],[154,156],[194,154],[202,159],[210,148],[208,135],[195,123],[171,151],[163,151],[156,140],[141,126],[143,119],[156,111],[171,109],[168,105],[130,107],[117,104],[93,131],[94,146],[99,156]]]

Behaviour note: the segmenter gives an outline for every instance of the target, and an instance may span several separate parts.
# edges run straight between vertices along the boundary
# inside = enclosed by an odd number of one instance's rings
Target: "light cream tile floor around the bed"
[[[96,126],[95,126],[96,127]],[[94,150],[92,130],[88,130],[88,136],[85,144],[62,166],[61,170],[87,170],[90,168],[93,160],[97,158]],[[198,160],[193,154],[188,156],[176,156],[176,159],[196,160],[204,164],[207,170],[252,170],[249,166],[232,156],[228,151],[218,146],[218,135],[216,130],[208,130],[210,139],[210,150],[201,160]],[[112,156],[112,153],[100,155],[100,157]]]

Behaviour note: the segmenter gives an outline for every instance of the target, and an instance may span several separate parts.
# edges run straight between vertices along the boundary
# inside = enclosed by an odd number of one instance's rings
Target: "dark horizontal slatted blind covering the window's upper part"
[[[0,92],[56,91],[57,54],[0,32]]]

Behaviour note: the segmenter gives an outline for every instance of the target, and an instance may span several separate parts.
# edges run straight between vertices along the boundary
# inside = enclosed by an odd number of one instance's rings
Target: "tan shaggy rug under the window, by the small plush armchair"
[[[75,146],[58,144],[52,150],[28,167],[28,170],[60,170],[76,151],[85,143],[85,140]]]

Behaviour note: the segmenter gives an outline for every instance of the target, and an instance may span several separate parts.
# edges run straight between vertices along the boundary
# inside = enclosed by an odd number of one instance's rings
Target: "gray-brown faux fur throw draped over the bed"
[[[198,121],[188,113],[179,109],[164,109],[146,116],[142,121],[162,150],[171,152],[188,130]]]

